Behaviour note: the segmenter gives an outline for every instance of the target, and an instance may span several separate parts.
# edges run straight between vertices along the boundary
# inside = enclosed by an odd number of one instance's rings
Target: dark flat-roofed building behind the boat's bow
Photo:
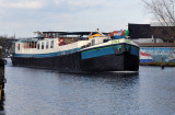
[[[162,38],[165,43],[175,42],[175,26],[151,26],[150,24],[128,24],[130,38]]]

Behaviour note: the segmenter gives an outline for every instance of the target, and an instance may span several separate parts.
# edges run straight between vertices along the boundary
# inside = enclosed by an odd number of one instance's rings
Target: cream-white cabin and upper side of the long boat
[[[106,42],[105,42],[106,41]],[[60,38],[26,38],[19,39],[15,43],[15,54],[48,54],[65,50],[83,50],[93,47],[101,47],[104,45],[117,44],[117,43],[131,43],[137,45],[132,41],[121,38],[121,39],[110,39],[108,36],[93,37],[84,41],[77,41],[74,43],[66,43],[65,45],[59,45]]]

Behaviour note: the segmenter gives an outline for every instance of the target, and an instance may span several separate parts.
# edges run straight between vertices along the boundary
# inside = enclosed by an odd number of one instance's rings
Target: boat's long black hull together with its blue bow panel
[[[59,72],[138,71],[139,48],[138,55],[133,55],[131,46],[130,49],[126,49],[126,44],[120,46],[119,51],[117,46],[108,46],[55,57],[12,57],[12,62],[14,66],[49,68]]]

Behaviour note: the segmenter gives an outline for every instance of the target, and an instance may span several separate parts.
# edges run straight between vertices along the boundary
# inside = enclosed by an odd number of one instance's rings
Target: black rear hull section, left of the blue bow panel
[[[13,66],[49,68],[60,72],[79,72],[81,64],[80,53],[47,58],[12,57],[11,59]]]

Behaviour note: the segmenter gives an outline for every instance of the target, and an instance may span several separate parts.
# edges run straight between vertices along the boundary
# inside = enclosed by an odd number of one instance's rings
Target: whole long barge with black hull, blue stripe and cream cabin
[[[60,72],[138,71],[139,45],[100,32],[62,32],[54,38],[19,39],[14,66],[52,68]]]

